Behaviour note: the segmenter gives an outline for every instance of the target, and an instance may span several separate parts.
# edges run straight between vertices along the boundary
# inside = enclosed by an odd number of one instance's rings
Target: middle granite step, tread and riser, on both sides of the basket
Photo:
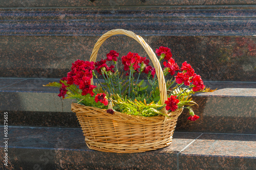
[[[72,100],[59,98],[57,88],[42,86],[58,80],[0,78],[1,118],[7,111],[9,124],[13,126],[79,127],[71,112]],[[184,110],[176,131],[256,134],[255,82],[206,81],[205,84],[218,89],[196,94],[194,100],[199,108],[194,111],[200,118],[190,122]]]

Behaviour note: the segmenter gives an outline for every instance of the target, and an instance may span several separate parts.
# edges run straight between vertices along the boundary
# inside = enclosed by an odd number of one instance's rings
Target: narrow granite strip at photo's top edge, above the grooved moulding
[[[5,8],[33,8],[33,7],[86,7],[86,6],[95,6],[95,7],[102,7],[102,6],[110,6],[112,8],[118,6],[177,6],[177,5],[198,5],[198,6],[205,6],[205,5],[232,5],[232,4],[255,4],[253,0],[220,0],[220,1],[198,1],[198,0],[190,0],[190,1],[177,1],[177,0],[115,0],[115,1],[101,1],[101,0],[31,0],[31,1],[0,1],[0,7]]]

